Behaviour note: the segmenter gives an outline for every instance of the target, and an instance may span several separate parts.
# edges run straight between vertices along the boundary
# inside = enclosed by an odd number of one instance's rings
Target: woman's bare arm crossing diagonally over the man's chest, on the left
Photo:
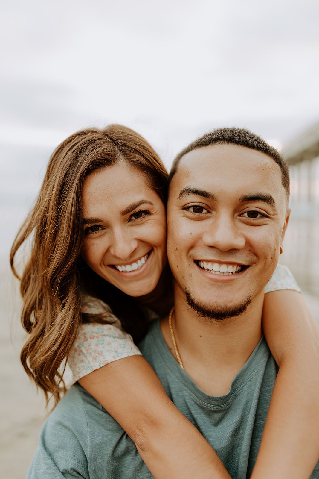
[[[114,361],[78,382],[121,424],[154,478],[231,478],[143,356]]]

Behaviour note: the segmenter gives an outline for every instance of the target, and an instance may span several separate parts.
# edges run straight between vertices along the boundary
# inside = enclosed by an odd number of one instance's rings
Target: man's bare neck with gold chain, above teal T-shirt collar
[[[172,325],[178,352],[187,374],[207,394],[226,394],[258,344],[263,300],[262,292],[240,316],[216,321],[198,317],[187,305],[184,292],[176,291]],[[161,328],[176,358],[167,317]]]

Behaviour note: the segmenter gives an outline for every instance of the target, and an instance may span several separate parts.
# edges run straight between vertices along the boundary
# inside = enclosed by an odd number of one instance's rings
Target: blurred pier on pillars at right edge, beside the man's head
[[[284,148],[292,209],[280,262],[295,275],[319,324],[319,123]]]

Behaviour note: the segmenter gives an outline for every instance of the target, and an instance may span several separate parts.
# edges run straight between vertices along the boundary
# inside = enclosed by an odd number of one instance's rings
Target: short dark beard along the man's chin
[[[242,302],[236,305],[225,305],[218,302],[207,304],[192,297],[189,291],[185,290],[185,295],[188,306],[196,311],[198,316],[216,321],[241,315],[246,311],[252,301],[252,296],[249,294]]]

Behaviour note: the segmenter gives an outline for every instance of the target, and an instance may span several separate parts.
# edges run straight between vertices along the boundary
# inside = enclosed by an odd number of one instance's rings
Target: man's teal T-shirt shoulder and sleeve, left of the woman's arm
[[[151,477],[120,424],[77,383],[45,422],[28,479],[71,476]]]

